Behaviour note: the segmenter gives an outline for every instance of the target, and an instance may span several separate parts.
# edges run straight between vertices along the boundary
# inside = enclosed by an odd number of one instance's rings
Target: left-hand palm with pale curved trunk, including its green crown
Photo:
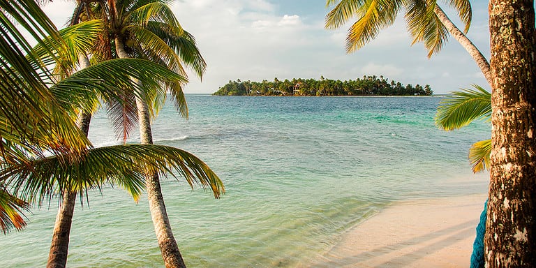
[[[166,66],[170,70],[186,75],[184,67],[189,67],[198,76],[204,73],[206,66],[202,59],[195,40],[191,34],[181,28],[177,18],[165,1],[157,0],[121,0],[109,1],[107,6],[108,31],[114,42],[115,54],[121,59],[142,58],[149,59]],[[143,84],[141,80],[135,80]],[[188,116],[186,100],[181,85],[168,87],[175,105],[183,117]],[[128,111],[137,112],[137,121],[140,126],[140,140],[142,144],[152,144],[151,117],[163,105],[166,94],[151,94],[145,98],[135,99],[135,108]],[[112,107],[117,107],[112,103]],[[116,126],[128,126],[124,116],[126,110],[115,113],[118,120]],[[122,128],[121,133],[128,133]],[[172,228],[165,210],[163,195],[161,193],[158,174],[147,174],[147,196],[149,210],[153,219],[158,245],[166,267],[185,267],[184,260],[179,252]]]

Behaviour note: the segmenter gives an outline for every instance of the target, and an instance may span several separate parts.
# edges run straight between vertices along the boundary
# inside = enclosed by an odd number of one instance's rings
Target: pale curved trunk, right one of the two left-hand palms
[[[130,58],[124,49],[124,43],[120,38],[115,38],[117,55],[121,59]],[[140,81],[136,81],[139,83]],[[136,98],[138,124],[140,124],[140,140],[142,144],[153,144],[151,133],[151,121],[149,108],[140,98]],[[186,267],[184,260],[173,237],[173,232],[165,210],[164,198],[161,191],[158,173],[147,174],[147,198],[149,199],[149,211],[153,220],[154,232],[158,239],[158,246],[162,253],[165,267]]]

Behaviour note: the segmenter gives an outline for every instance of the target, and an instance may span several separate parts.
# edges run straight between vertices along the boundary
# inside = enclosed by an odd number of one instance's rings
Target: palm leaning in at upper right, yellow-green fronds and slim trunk
[[[471,24],[470,1],[442,2],[458,12],[461,22],[465,24],[463,31],[452,23],[436,0],[327,0],[326,5],[334,8],[326,16],[326,28],[342,27],[345,22],[357,17],[346,38],[346,51],[354,52],[376,38],[381,29],[391,26],[396,16],[404,10],[408,31],[413,38],[412,44],[423,42],[429,52],[428,57],[431,57],[442,49],[451,34],[468,51],[491,85],[488,61],[464,34]]]

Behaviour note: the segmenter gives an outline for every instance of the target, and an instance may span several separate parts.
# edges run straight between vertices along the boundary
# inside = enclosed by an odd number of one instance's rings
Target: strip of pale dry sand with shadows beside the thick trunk
[[[397,202],[312,267],[469,267],[486,195]]]

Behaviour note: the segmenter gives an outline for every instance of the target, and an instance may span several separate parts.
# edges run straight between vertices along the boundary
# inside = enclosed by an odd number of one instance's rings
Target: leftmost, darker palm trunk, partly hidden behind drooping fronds
[[[85,55],[80,57],[80,69],[89,66],[89,60]],[[80,112],[76,125],[87,137],[89,133],[89,123],[91,114]],[[52,243],[48,253],[47,268],[63,268],[67,264],[67,255],[69,248],[70,226],[73,223],[73,214],[75,211],[76,192],[66,189],[63,195],[63,202],[59,205],[56,223],[54,223],[54,232],[52,234]]]

